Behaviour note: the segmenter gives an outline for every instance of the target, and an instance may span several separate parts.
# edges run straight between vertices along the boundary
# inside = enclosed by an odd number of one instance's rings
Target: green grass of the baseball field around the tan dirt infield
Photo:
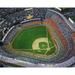
[[[45,40],[43,40],[43,42],[40,41],[38,48],[35,50],[35,48],[32,48],[32,44],[38,38],[48,38],[48,43],[44,42]],[[47,32],[46,26],[32,26],[23,29],[13,38],[11,45],[12,48],[16,49],[17,51],[26,51],[34,54],[50,55],[53,54],[56,50],[51,36]]]

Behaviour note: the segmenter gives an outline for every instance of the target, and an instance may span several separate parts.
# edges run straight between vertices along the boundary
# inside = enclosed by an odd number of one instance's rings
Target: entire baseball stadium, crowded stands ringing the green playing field
[[[13,9],[2,18],[7,31],[0,61],[25,67],[68,67],[75,63],[75,31],[66,17],[51,8]]]

